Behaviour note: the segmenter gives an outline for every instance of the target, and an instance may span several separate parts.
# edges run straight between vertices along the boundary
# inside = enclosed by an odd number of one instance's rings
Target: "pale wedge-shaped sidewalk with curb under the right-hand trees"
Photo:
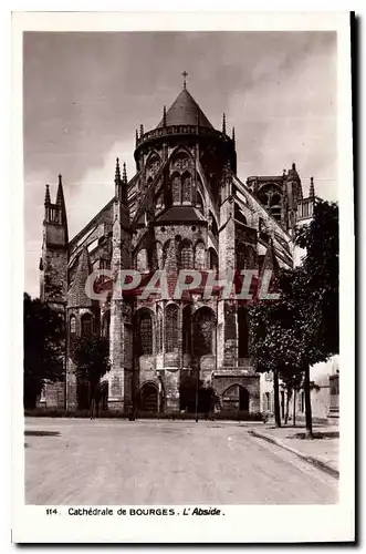
[[[339,431],[337,427],[313,427],[314,440],[305,439],[305,427],[275,428],[266,424],[250,434],[293,452],[309,463],[339,479]]]

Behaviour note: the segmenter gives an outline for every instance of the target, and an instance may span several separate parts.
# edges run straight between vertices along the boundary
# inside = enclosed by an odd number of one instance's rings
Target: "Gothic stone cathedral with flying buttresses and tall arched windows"
[[[46,185],[41,299],[66,322],[65,382],[46,386],[48,408],[85,407],[72,343],[97,334],[109,343],[108,410],[189,412],[195,391],[205,388],[215,391],[218,409],[261,410],[245,305],[218,291],[207,298],[200,289],[179,299],[109,294],[103,301],[85,289],[101,270],[166,269],[170,279],[181,269],[224,278],[228,270],[293,267],[294,229],[312,215],[313,182],[303,197],[294,163],[279,175],[242,181],[234,129],[228,132],[224,114],[222,127],[212,126],[184,75],[157,126],[136,131],[134,176],[128,181],[117,158],[113,198],[71,239],[62,176],[55,202]]]

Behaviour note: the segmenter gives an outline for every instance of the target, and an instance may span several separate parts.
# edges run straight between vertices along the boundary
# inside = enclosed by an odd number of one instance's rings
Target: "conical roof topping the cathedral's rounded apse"
[[[166,126],[197,124],[201,127],[213,129],[196,100],[184,88],[166,113]],[[163,126],[164,121],[161,120],[157,129]]]

